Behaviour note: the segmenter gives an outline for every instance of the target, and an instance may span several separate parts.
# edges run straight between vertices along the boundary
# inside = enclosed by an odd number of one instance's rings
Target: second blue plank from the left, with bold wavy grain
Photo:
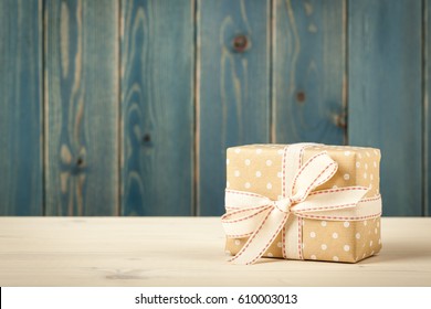
[[[45,9],[46,214],[117,214],[117,1]]]

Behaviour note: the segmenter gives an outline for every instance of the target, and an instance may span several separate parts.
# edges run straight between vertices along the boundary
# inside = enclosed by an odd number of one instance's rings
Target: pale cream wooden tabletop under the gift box
[[[431,217],[358,264],[231,265],[218,217],[0,217],[0,286],[431,286]]]

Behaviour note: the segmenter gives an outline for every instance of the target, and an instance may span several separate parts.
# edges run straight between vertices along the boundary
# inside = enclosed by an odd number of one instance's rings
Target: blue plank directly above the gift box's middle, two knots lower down
[[[345,0],[274,0],[274,141],[344,143],[345,13]]]

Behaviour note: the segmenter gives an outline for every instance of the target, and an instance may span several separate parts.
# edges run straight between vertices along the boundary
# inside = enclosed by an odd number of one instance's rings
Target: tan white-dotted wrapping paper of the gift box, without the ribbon
[[[248,145],[229,148],[227,189],[261,194],[274,201],[283,199],[282,168],[286,146]],[[302,163],[323,151],[327,151],[337,162],[338,169],[333,178],[315,191],[360,185],[369,189],[364,198],[379,196],[380,151],[378,149],[312,145],[304,149]],[[293,216],[294,214],[290,215],[286,224],[291,223]],[[380,216],[360,221],[302,219],[299,222],[304,259],[356,263],[381,249]],[[282,232],[264,253],[264,257],[283,258]],[[227,237],[225,249],[235,255],[246,241],[248,237]]]

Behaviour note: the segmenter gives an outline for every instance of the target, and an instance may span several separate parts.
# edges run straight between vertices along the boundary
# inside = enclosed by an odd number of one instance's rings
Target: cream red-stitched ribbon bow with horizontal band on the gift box
[[[287,190],[283,184],[284,198],[277,201],[251,192],[225,190],[228,212],[221,217],[224,232],[228,237],[249,237],[231,262],[255,263],[285,227],[291,214],[299,219],[336,221],[365,220],[380,215],[380,196],[362,200],[368,188],[347,187],[314,191],[327,182],[337,169],[337,162],[326,151],[315,154],[293,175]],[[301,239],[298,241],[298,246],[293,245],[302,251]],[[295,247],[285,243],[286,245],[291,249]],[[283,252],[285,251],[284,247]],[[301,253],[298,256],[302,258]]]

